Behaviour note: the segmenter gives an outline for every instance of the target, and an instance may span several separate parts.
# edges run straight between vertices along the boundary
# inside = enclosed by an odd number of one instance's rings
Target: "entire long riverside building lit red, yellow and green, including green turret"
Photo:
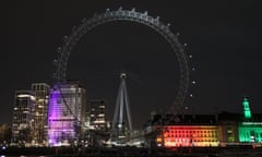
[[[252,113],[247,98],[242,110],[217,116],[155,114],[145,132],[151,145],[164,147],[261,145],[262,113]]]

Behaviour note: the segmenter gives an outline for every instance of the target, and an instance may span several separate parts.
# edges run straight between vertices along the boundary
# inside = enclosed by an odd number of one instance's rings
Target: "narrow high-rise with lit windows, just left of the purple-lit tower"
[[[34,83],[31,89],[35,93],[34,141],[45,144],[47,140],[47,111],[50,86],[46,83]]]

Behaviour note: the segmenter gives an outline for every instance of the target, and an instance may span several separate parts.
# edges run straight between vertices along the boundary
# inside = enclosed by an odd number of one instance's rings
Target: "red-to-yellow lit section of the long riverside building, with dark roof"
[[[168,117],[168,118],[167,118]],[[148,131],[157,131],[153,145],[163,147],[178,146],[218,146],[218,124],[215,116],[184,114],[155,116]],[[152,141],[152,140],[151,140]]]

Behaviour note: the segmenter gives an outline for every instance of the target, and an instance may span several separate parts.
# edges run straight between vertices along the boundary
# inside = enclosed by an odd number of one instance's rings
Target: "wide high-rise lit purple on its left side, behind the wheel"
[[[70,144],[83,137],[86,89],[78,81],[55,84],[48,109],[48,143]]]

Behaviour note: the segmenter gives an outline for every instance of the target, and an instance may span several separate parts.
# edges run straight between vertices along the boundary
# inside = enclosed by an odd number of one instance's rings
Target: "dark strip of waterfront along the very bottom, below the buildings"
[[[178,147],[178,148],[81,148],[81,147],[7,147],[0,155],[9,156],[48,156],[48,157],[116,157],[116,156],[147,156],[147,157],[261,157],[262,148],[252,147]]]

